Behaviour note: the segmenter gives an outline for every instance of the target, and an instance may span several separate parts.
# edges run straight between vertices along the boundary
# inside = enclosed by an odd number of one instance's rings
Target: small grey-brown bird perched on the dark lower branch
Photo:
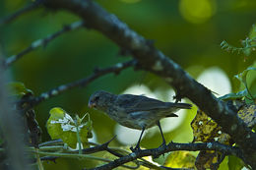
[[[142,135],[146,129],[158,126],[162,138],[161,145],[165,145],[160,119],[165,117],[178,117],[174,112],[179,109],[190,109],[191,104],[163,102],[145,95],[112,94],[98,90],[91,95],[88,106],[106,113],[111,119],[122,126],[142,130],[136,146],[132,151],[140,150]]]

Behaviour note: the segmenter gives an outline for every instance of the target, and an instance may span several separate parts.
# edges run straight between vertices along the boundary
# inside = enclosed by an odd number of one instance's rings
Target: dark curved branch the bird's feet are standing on
[[[198,151],[198,150],[217,150],[223,152],[225,155],[234,155],[240,158],[243,158],[242,152],[237,147],[231,147],[229,145],[224,145],[220,142],[205,142],[205,143],[176,143],[170,142],[165,146],[160,146],[158,148],[152,149],[144,149],[132,152],[126,156],[115,159],[112,162],[109,162],[105,165],[93,168],[92,170],[107,170],[113,169],[120,165],[123,165],[127,162],[136,160],[137,158],[141,158],[144,156],[153,156],[159,157],[163,153],[167,153],[169,151],[175,150],[190,150],[190,151]]]

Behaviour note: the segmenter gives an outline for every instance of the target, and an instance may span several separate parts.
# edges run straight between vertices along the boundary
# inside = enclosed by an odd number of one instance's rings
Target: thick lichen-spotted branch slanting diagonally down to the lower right
[[[158,50],[153,43],[128,28],[116,16],[107,13],[94,1],[45,0],[45,5],[54,10],[65,9],[80,16],[90,28],[95,28],[112,39],[122,49],[130,51],[138,60],[141,69],[162,77],[166,83],[176,89],[178,99],[189,98],[222,126],[224,132],[229,134],[246,153],[246,163],[256,169],[256,134],[251,132],[223,101],[218,100],[207,87],[192,79],[179,65]]]

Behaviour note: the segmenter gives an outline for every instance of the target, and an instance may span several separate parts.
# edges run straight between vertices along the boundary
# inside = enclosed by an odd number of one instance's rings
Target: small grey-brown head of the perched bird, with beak
[[[114,94],[109,92],[103,90],[96,91],[93,95],[91,95],[88,106],[90,108],[96,108],[97,110],[105,112],[113,97]]]

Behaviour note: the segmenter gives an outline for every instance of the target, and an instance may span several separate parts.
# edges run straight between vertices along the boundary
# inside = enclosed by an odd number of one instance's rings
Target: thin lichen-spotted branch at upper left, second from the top
[[[20,58],[22,58],[24,55],[32,52],[32,50],[40,47],[40,46],[46,46],[48,44],[48,42],[50,42],[51,40],[55,39],[56,37],[60,36],[61,34],[70,31],[70,30],[74,30],[76,28],[81,28],[84,26],[84,22],[79,21],[79,22],[75,22],[71,25],[68,26],[64,26],[62,29],[47,35],[45,38],[42,39],[37,39],[35,41],[32,42],[32,44],[24,49],[23,51],[21,51],[20,53],[16,54],[16,55],[12,55],[10,57],[8,57],[4,62],[3,62],[3,66],[4,68],[8,68],[9,66],[11,66],[14,62],[16,62],[17,60],[19,60]]]

